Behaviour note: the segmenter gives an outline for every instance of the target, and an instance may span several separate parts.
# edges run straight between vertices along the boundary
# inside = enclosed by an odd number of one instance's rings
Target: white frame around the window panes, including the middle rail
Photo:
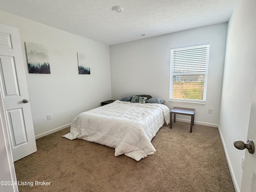
[[[172,91],[173,91],[173,76],[177,76],[177,74],[173,73],[173,60],[172,60],[172,51],[178,50],[178,49],[187,49],[187,48],[193,48],[193,47],[199,47],[199,46],[205,46],[207,48],[206,52],[208,52],[208,58],[206,58],[206,69],[205,72],[200,73],[184,73],[180,76],[194,76],[194,75],[204,75],[204,94],[202,100],[197,99],[182,99],[182,98],[172,98]],[[170,96],[169,96],[169,102],[170,103],[182,103],[182,104],[195,104],[195,105],[204,105],[206,103],[206,92],[207,92],[207,82],[208,82],[208,66],[209,66],[209,58],[210,58],[210,42],[204,42],[204,43],[198,43],[198,44],[190,44],[190,45],[184,45],[184,46],[178,46],[173,47],[170,49]]]

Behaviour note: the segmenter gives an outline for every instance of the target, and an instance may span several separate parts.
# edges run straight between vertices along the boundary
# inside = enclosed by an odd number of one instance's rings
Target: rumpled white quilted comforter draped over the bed
[[[103,144],[115,148],[115,156],[125,154],[139,161],[156,151],[151,140],[164,121],[170,123],[170,110],[163,104],[117,100],[79,114],[63,137]]]

